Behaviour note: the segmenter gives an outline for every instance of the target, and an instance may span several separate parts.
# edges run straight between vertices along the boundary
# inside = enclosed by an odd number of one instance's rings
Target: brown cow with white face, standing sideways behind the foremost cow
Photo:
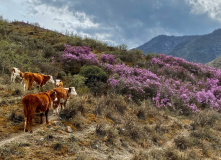
[[[36,82],[41,89],[42,89],[42,86],[45,85],[47,82],[51,82],[54,84],[54,80],[51,75],[25,72],[24,73],[24,91],[27,89],[31,90],[33,82]]]

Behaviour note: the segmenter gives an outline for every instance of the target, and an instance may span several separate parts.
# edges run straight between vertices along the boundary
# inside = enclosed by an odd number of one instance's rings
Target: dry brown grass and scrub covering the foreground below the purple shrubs
[[[6,76],[7,77],[7,76]],[[58,117],[23,133],[19,83],[0,85],[1,159],[219,159],[221,116],[205,110],[178,116],[123,96],[76,96]],[[70,126],[72,132],[67,132]]]

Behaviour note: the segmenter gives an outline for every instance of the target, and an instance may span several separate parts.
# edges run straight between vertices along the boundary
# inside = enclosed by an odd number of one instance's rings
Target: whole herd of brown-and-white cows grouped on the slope
[[[24,82],[24,91],[31,90],[33,83],[35,82],[39,89],[46,85],[47,82],[54,84],[54,88],[51,91],[39,92],[35,94],[26,94],[22,98],[22,105],[24,109],[24,131],[32,133],[32,119],[35,112],[40,112],[40,123],[43,123],[43,113],[46,116],[46,123],[48,122],[48,113],[52,106],[53,114],[59,113],[59,105],[61,110],[66,106],[68,99],[77,95],[75,87],[63,88],[61,80],[56,79],[54,81],[51,75],[44,75],[41,73],[22,73],[18,68],[12,68],[11,81],[15,82],[16,77],[21,79],[21,83]]]

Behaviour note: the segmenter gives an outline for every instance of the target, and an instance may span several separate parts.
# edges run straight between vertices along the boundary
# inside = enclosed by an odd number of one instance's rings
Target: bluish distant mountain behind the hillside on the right
[[[135,48],[147,53],[163,53],[196,63],[207,63],[221,56],[221,29],[199,36],[159,35]]]

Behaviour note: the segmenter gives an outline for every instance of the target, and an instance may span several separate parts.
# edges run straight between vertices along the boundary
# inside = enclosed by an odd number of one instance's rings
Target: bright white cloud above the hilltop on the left
[[[70,12],[67,6],[56,8],[45,4],[31,5],[29,13],[31,15],[29,19],[32,22],[37,21],[40,26],[59,32],[64,32],[65,30],[75,32],[77,28],[92,29],[99,26],[99,24],[93,23],[92,17],[83,12]]]

